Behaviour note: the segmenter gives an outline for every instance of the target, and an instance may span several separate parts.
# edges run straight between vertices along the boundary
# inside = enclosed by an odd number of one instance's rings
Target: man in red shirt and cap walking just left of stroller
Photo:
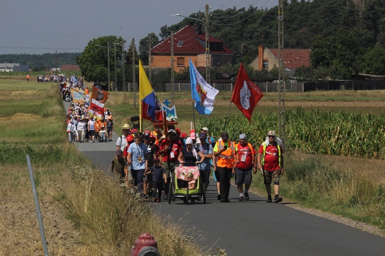
[[[168,141],[162,140],[162,143],[159,147],[159,154],[163,154],[162,166],[166,170],[167,183],[172,181],[172,193],[175,191],[175,173],[174,170],[178,166],[178,156],[181,152],[183,146],[180,140],[177,137],[177,132],[174,129],[168,130]],[[170,178],[171,174],[171,178]],[[169,188],[168,186],[164,187],[164,199],[168,198]]]

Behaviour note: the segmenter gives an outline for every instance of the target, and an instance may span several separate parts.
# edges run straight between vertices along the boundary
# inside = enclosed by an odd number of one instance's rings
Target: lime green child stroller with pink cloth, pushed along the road
[[[181,183],[187,181],[186,175],[188,173],[194,174],[194,179],[196,181],[197,187],[195,189],[182,189],[180,187]],[[175,198],[182,199],[186,204],[190,199],[198,199],[200,191],[200,182],[199,182],[199,169],[197,166],[178,166],[175,168]],[[202,190],[203,203],[206,203],[206,195],[204,190]],[[168,197],[168,203],[171,203],[171,197]]]

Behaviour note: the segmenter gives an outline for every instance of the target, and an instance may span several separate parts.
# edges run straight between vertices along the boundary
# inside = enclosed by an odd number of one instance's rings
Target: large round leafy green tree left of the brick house
[[[103,36],[93,38],[88,42],[88,45],[84,48],[81,56],[76,57],[76,63],[78,63],[82,70],[82,76],[87,81],[99,81],[107,83],[108,81],[108,52],[107,46],[110,50],[110,74],[114,73],[114,47],[113,42],[121,42],[122,37],[116,36]],[[123,40],[123,44],[124,44]],[[117,61],[122,59],[122,46],[117,47]],[[111,76],[113,77],[113,75]]]

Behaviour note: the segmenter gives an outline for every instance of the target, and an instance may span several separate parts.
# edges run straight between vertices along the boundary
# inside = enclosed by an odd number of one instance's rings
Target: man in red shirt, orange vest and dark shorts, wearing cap
[[[252,169],[256,169],[254,161],[256,151],[254,147],[247,143],[245,134],[239,135],[239,143],[235,145],[235,184],[238,187],[239,201],[248,200],[248,189],[252,184]],[[245,193],[243,196],[243,183],[245,184]]]

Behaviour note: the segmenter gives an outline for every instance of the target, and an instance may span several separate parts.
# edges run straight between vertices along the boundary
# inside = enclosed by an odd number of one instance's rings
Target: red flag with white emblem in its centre
[[[238,106],[250,123],[252,123],[254,108],[262,97],[262,91],[248,78],[243,63],[241,63],[231,101]]]

